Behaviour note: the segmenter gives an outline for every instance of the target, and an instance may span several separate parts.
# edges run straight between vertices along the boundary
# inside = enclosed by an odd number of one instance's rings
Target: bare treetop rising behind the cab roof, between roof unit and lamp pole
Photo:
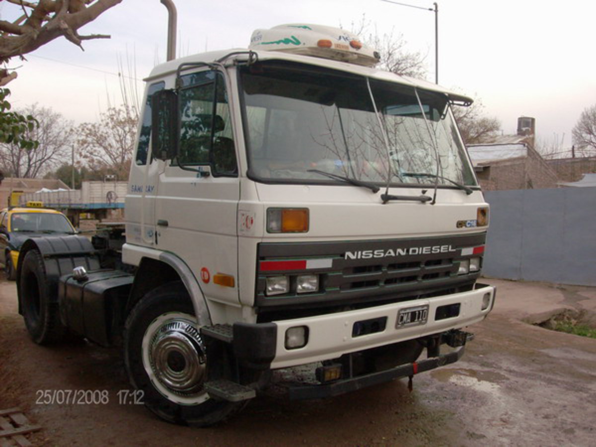
[[[365,14],[358,23],[352,22],[352,33],[360,36],[362,41],[376,49],[381,55],[378,67],[396,75],[418,77],[423,79],[427,75],[427,69],[424,64],[424,57],[420,52],[412,52],[406,49],[408,42],[403,39],[403,35],[394,34],[392,29],[390,33],[380,34],[377,26],[373,26],[370,20],[367,20]]]

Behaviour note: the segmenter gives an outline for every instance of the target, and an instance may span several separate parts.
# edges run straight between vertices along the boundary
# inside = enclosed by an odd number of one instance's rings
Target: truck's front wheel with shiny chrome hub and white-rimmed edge
[[[164,420],[209,426],[241,406],[215,401],[204,390],[205,349],[180,281],[150,291],[137,303],[126,320],[124,340],[131,384],[142,391],[145,406]]]

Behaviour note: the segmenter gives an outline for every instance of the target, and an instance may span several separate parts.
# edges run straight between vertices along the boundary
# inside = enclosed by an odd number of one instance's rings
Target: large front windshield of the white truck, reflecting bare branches
[[[379,185],[388,176],[392,185],[476,185],[443,94],[279,62],[244,67],[241,85],[256,179],[333,181],[324,171]]]

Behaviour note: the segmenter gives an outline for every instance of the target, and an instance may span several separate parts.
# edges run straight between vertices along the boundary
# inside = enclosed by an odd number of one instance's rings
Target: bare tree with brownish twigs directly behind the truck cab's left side
[[[138,111],[121,105],[110,107],[96,123],[79,126],[79,154],[91,170],[114,173],[126,178],[136,138]]]

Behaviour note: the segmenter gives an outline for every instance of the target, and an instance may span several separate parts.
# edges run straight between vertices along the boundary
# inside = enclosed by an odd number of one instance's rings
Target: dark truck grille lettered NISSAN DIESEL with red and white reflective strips
[[[462,260],[482,256],[485,238],[483,232],[408,240],[259,244],[257,309],[276,311],[276,318],[284,309],[291,313],[287,318],[296,318],[331,308],[343,311],[346,306],[362,308],[471,290],[480,272],[458,275],[458,269]],[[479,249],[476,253],[474,247]],[[296,293],[295,278],[304,274],[319,276],[318,292]],[[290,278],[290,290],[266,296],[266,278],[275,276]]]

